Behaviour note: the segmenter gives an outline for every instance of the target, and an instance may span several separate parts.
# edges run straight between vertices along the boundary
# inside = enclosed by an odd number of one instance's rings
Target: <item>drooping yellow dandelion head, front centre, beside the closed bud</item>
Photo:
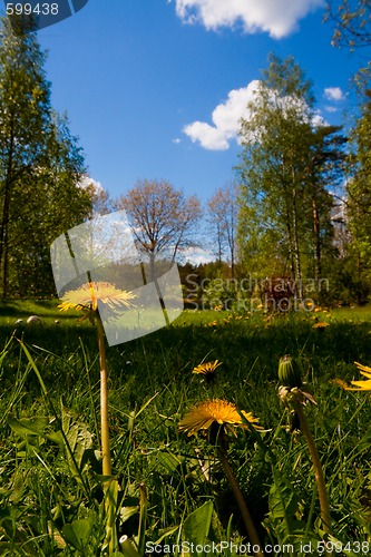
[[[254,418],[251,412],[242,411],[244,418],[255,429],[262,429],[257,422],[258,418]],[[234,436],[236,436],[233,427],[238,426],[246,428],[235,404],[226,400],[205,400],[196,404],[178,423],[178,429],[182,432],[187,432],[188,437],[197,433],[201,430],[208,430],[213,424],[225,427]]]

